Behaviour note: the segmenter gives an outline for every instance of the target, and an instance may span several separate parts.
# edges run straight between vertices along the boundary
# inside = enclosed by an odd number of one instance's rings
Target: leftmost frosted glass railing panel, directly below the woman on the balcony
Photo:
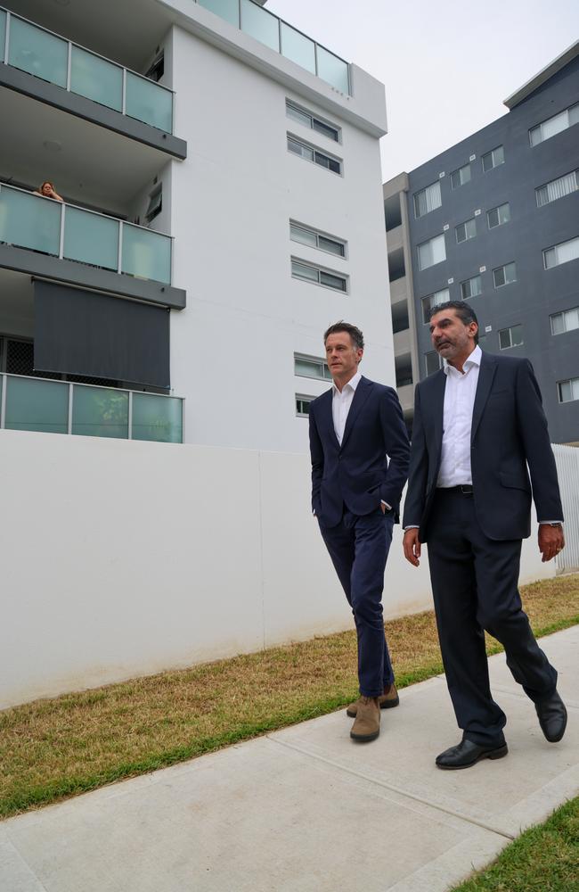
[[[0,188],[0,242],[58,256],[61,202]]]

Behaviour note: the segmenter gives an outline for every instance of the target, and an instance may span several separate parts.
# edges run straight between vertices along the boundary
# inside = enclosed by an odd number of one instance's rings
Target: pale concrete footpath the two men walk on
[[[342,710],[0,823],[2,892],[444,892],[579,792],[579,627],[542,640],[567,734],[492,657],[510,753],[461,772],[444,677],[403,690],[370,744]]]

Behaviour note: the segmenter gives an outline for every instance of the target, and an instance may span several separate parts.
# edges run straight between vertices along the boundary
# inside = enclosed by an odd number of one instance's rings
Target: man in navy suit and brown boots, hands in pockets
[[[398,705],[382,590],[409,444],[396,391],[358,371],[360,329],[338,322],[323,341],[333,386],[310,403],[312,509],[354,614],[361,696],[347,714],[363,742],[378,737],[380,708]]]

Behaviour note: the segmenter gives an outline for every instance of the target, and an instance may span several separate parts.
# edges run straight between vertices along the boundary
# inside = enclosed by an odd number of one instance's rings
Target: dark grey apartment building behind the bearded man
[[[428,311],[471,301],[481,347],[526,356],[553,442],[579,442],[579,42],[509,111],[384,186],[396,383],[438,368]]]

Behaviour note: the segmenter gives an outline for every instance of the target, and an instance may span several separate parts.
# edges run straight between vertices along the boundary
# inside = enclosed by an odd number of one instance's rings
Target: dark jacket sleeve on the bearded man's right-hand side
[[[537,520],[563,520],[555,456],[550,445],[541,391],[528,359],[517,372],[517,424],[533,486]]]

